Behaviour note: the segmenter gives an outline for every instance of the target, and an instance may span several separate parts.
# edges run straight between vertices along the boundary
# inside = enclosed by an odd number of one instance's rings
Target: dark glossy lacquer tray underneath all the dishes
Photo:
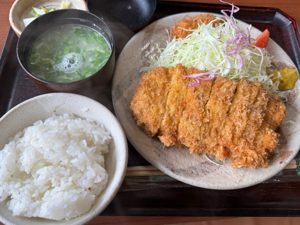
[[[175,13],[212,12],[227,5],[158,1],[151,22]],[[270,31],[300,70],[300,35],[294,19],[276,8],[240,7],[235,18]],[[117,42],[116,57],[127,40]],[[115,34],[116,39],[119,34]],[[43,94],[22,70],[16,56],[18,37],[10,28],[0,58],[0,116],[17,104]],[[111,86],[95,100],[112,112]],[[0,131],[5,132],[5,131]],[[149,165],[128,142],[128,166]],[[297,155],[299,157],[299,154]],[[211,190],[176,181],[169,176],[126,177],[120,191],[101,215],[140,216],[299,216],[300,178],[285,171],[266,182],[238,190]]]

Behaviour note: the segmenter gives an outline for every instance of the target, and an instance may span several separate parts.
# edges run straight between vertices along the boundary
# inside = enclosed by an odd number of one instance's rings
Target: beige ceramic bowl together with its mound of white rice
[[[99,102],[50,93],[0,119],[0,221],[84,224],[118,192],[127,167],[125,133]]]

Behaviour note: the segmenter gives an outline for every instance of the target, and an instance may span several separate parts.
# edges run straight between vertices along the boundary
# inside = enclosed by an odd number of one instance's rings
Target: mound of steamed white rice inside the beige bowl
[[[64,114],[35,122],[0,151],[0,201],[13,215],[69,220],[91,208],[108,174],[110,133]]]

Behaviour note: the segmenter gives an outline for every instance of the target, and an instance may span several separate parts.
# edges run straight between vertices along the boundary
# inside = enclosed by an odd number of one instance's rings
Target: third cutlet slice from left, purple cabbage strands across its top
[[[189,70],[190,75],[196,73]],[[199,73],[199,72],[198,72]],[[191,84],[192,81],[189,82]],[[201,80],[194,87],[187,88],[186,107],[180,118],[178,125],[178,140],[185,146],[193,149],[197,145],[197,141],[202,139],[200,131],[202,120],[205,115],[205,105],[208,101],[213,79]]]

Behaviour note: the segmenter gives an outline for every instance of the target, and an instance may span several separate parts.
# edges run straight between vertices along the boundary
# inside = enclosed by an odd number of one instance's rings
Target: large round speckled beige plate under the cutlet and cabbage
[[[221,167],[209,162],[205,156],[190,154],[189,150],[166,147],[158,138],[149,137],[138,127],[129,106],[134,91],[140,81],[139,70],[149,65],[148,57],[155,57],[158,47],[164,47],[168,39],[166,29],[180,19],[195,16],[196,13],[181,13],[162,18],[137,33],[125,46],[116,63],[113,76],[113,105],[116,116],[125,130],[125,134],[135,149],[152,165],[167,175],[187,184],[210,189],[236,189],[258,184],[271,178],[289,164],[300,149],[300,98],[299,81],[296,87],[287,91],[290,97],[287,103],[286,122],[280,129],[279,145],[270,155],[270,166],[267,168],[232,168],[229,161]],[[217,15],[217,14],[216,14]],[[221,16],[221,15],[217,15]],[[237,26],[245,30],[248,24],[237,21]],[[256,37],[261,32],[251,28],[251,35]],[[269,40],[268,49],[274,59],[293,64],[274,41]]]

